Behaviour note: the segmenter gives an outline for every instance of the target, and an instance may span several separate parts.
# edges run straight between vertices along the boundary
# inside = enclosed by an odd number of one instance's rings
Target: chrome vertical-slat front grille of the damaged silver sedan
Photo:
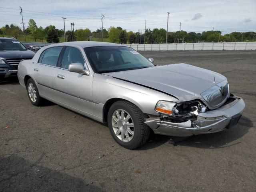
[[[220,106],[229,96],[228,82],[220,82],[201,95],[212,108]]]

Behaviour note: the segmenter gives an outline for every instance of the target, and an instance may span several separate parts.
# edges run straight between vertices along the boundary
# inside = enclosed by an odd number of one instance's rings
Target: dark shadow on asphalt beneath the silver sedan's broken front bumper
[[[170,146],[180,145],[208,149],[226,148],[239,144],[240,142],[235,142],[232,144],[230,143],[248,133],[248,130],[251,127],[253,127],[252,121],[249,118],[242,116],[238,124],[230,129],[223,130],[221,132],[194,135],[187,138],[155,135],[151,140],[148,140],[146,144],[144,144],[137,150],[148,150],[151,148],[156,148],[162,144],[165,144],[166,142],[168,142],[168,140]]]

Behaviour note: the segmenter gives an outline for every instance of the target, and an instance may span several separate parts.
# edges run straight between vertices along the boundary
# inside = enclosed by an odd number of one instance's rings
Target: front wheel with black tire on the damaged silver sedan
[[[117,113],[120,118],[118,118]],[[130,118],[125,124],[128,115],[130,115]],[[114,140],[122,147],[135,149],[148,140],[150,128],[144,122],[145,118],[142,111],[130,102],[117,101],[108,110],[108,128]],[[133,135],[130,134],[132,132]],[[122,138],[122,134],[124,138]]]

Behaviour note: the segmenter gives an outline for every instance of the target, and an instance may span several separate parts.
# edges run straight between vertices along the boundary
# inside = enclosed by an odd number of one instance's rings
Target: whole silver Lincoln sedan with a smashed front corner
[[[231,128],[244,100],[226,77],[188,64],[156,66],[132,48],[104,42],[66,42],[40,49],[18,68],[30,102],[43,98],[108,123],[129,149],[155,134],[191,136]]]

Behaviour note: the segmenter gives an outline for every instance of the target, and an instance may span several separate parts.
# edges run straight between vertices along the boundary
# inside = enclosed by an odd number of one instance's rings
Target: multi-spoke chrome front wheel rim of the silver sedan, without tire
[[[116,136],[123,142],[129,142],[134,136],[134,124],[128,112],[122,109],[112,114],[112,128]]]

